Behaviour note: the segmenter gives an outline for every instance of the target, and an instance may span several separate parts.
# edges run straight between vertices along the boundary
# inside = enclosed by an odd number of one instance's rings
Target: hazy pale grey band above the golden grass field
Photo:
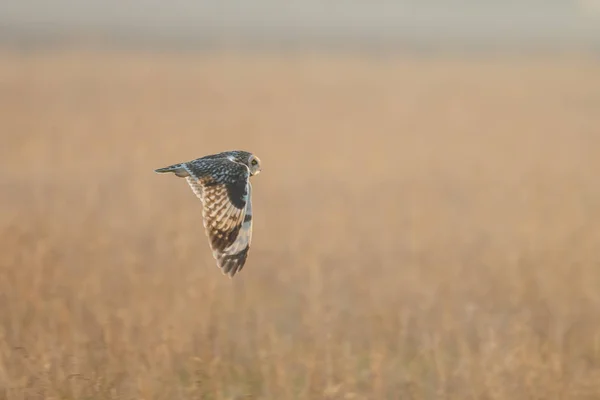
[[[26,0],[0,5],[2,37],[402,50],[600,46],[597,0]]]

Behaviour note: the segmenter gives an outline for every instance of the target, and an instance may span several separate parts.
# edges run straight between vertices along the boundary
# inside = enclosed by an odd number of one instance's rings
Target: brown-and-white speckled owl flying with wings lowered
[[[204,229],[217,266],[230,278],[246,262],[252,240],[252,185],[261,171],[258,157],[226,151],[155,170],[185,178],[202,201]]]

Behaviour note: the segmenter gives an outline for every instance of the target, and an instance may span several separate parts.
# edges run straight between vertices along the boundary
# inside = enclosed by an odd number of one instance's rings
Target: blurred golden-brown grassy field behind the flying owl
[[[0,134],[0,399],[600,398],[598,62],[4,52]]]

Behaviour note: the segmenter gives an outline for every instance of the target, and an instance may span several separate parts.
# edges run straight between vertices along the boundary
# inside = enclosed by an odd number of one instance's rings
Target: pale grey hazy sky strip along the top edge
[[[3,32],[600,43],[598,0],[4,0]]]

